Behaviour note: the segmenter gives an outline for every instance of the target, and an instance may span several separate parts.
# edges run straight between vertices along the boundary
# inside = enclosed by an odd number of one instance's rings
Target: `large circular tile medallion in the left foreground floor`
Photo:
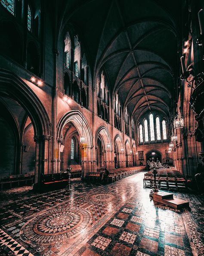
[[[56,208],[28,221],[20,230],[26,243],[51,243],[80,234],[91,221],[89,211],[81,208]]]

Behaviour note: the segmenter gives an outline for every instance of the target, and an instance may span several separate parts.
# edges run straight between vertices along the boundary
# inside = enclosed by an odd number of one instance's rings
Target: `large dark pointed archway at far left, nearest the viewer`
[[[46,110],[26,83],[5,70],[0,70],[0,106],[3,110],[0,119],[6,124],[0,143],[7,149],[1,157],[4,160],[9,157],[12,163],[12,166],[8,163],[0,166],[1,175],[33,173],[34,183],[38,183],[40,174],[49,170]]]

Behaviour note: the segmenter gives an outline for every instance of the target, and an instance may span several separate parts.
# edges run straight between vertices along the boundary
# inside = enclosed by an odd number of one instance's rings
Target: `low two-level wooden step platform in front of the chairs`
[[[153,200],[162,205],[167,205],[170,206],[171,208],[175,208],[178,210],[185,207],[189,207],[189,202],[181,200],[179,198],[173,198],[173,194],[167,192],[154,192]]]

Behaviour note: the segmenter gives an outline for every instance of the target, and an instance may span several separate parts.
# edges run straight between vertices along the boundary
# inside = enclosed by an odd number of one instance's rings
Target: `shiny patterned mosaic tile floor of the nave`
[[[71,192],[1,192],[0,256],[204,255],[204,198],[175,192],[190,202],[181,212],[154,205],[143,177],[75,182]]]

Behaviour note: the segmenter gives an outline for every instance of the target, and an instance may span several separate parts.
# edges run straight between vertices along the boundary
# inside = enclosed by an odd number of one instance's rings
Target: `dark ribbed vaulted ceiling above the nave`
[[[170,116],[178,68],[181,0],[67,1],[64,25],[85,44],[93,77],[104,69],[111,94],[121,95],[137,120],[142,113]]]

